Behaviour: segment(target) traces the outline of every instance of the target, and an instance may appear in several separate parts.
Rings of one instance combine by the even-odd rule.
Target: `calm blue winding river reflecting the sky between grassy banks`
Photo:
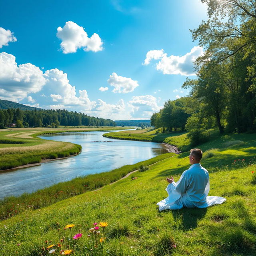
[[[105,138],[102,136],[104,133],[106,132],[65,132],[40,136],[46,140],[80,144],[82,152],[77,156],[37,166],[1,171],[0,199],[31,193],[77,176],[107,172],[168,152],[164,144]]]

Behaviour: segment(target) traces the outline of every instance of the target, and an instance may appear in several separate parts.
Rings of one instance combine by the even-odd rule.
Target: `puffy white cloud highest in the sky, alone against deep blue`
[[[62,40],[60,46],[64,54],[76,52],[78,48],[86,52],[103,50],[103,42],[98,34],[94,33],[89,38],[84,28],[72,21],[66,22],[63,28],[58,27],[56,36]]]

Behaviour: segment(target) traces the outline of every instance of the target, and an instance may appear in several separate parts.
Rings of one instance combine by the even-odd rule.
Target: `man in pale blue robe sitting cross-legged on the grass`
[[[205,208],[214,204],[222,204],[226,198],[208,196],[210,190],[209,173],[204,169],[200,160],[203,152],[198,148],[190,150],[188,170],[182,173],[180,180],[175,183],[174,178],[166,178],[168,184],[166,191],[168,197],[157,203],[159,210],[177,210],[186,206],[188,208]]]

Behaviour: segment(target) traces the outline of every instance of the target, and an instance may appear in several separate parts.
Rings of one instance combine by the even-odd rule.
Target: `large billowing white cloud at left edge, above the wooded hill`
[[[0,53],[0,98],[18,102],[28,93],[39,92],[46,79],[40,68],[31,63],[17,66],[15,56]]]

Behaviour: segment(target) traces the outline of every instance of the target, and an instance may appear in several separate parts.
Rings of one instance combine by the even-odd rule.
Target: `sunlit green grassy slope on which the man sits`
[[[184,136],[183,134],[179,135]],[[172,141],[180,138],[172,137]],[[183,138],[184,143],[186,139]],[[176,144],[178,146],[178,144]],[[205,209],[158,211],[156,203],[166,197],[166,176],[178,180],[189,167],[183,152],[150,166],[145,172],[88,191],[38,210],[0,222],[0,254],[48,255],[42,247],[51,240],[57,249],[65,236],[70,247],[70,230],[82,230],[80,247],[88,245],[88,229],[106,221],[106,248],[111,256],[253,256],[256,250],[256,136],[226,134],[198,145],[204,151],[202,166],[210,173],[209,195],[227,201]],[[83,246],[82,246],[83,247]],[[76,247],[77,248],[77,247]],[[73,255],[85,255],[75,249]]]

